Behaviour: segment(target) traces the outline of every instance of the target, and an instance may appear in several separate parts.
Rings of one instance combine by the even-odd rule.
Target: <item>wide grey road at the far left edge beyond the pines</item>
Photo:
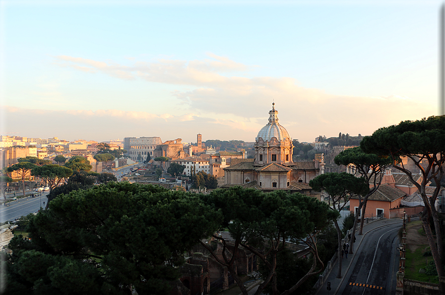
[[[12,221],[29,213],[37,212],[40,206],[45,208],[48,202],[47,195],[48,192],[45,192],[41,197],[18,198],[16,201],[8,202],[7,206],[1,205],[0,222]]]

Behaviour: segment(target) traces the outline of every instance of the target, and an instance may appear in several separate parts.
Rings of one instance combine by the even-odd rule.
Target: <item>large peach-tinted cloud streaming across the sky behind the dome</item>
[[[246,77],[245,72],[254,66],[213,53],[207,55],[209,58],[203,60],[164,58],[153,62],[135,61],[132,65],[65,55],[58,56],[57,60],[62,66],[76,70],[85,71],[85,67],[91,73],[101,72],[119,79],[174,85],[176,90],[170,93],[171,96],[177,98],[179,104],[188,106],[188,114],[183,116],[98,110],[93,112],[95,117],[125,117],[178,129],[196,126],[193,133],[202,133],[199,130],[205,129],[220,139],[226,136],[227,131],[224,130],[228,130],[247,136],[240,138],[242,140],[254,141],[256,132],[267,123],[272,101],[280,112],[280,123],[292,137],[305,141],[312,141],[320,134],[328,137],[339,132],[371,134],[380,127],[398,124],[402,120],[416,120],[435,114],[436,106],[404,94],[379,97],[329,94],[320,89],[302,87],[291,77]],[[230,75],[224,75],[227,73]],[[89,115],[87,111],[81,112]],[[218,127],[212,130],[203,123],[197,124],[199,120],[204,120],[212,128]],[[178,127],[175,124],[182,125]],[[167,132],[166,128],[159,130]],[[215,130],[221,130],[221,134]]]

